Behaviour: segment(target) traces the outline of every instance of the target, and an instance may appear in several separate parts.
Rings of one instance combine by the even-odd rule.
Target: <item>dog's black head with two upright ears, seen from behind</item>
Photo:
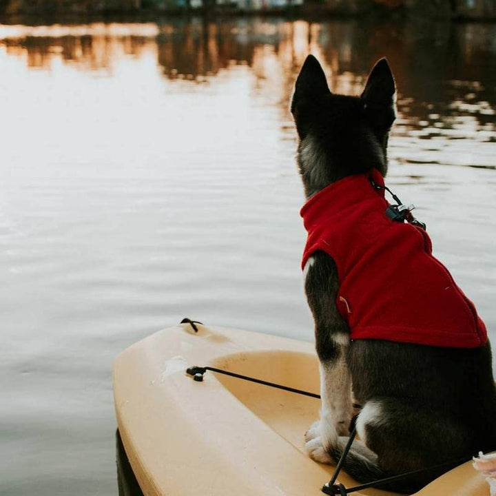
[[[336,180],[372,167],[386,175],[395,94],[386,59],[375,64],[361,96],[344,96],[331,93],[320,63],[307,56],[291,101],[300,136],[298,167],[307,198]]]

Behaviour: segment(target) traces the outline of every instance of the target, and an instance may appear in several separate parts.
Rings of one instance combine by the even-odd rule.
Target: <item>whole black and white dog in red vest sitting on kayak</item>
[[[291,113],[309,230],[304,287],[322,398],[305,440],[316,462],[338,462],[353,394],[360,440],[342,468],[367,483],[446,464],[380,486],[413,493],[459,459],[496,449],[496,388],[472,302],[433,258],[419,223],[386,215],[395,94],[386,59],[361,96],[331,93],[311,55],[296,81]]]

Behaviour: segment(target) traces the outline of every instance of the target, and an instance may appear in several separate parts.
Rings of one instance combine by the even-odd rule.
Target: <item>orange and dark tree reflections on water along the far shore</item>
[[[322,62],[331,90],[344,94],[360,94],[371,64],[387,56],[399,89],[395,134],[437,140],[438,148],[442,140],[463,137],[478,143],[493,141],[496,47],[484,40],[496,37],[495,28],[421,28],[280,19],[3,25],[0,50],[24,61],[28,69],[57,73],[81,70],[105,76],[122,69],[130,59],[155,61],[170,81],[210,85],[220,72],[246,65],[254,76],[253,90],[279,105],[283,128],[289,127],[287,107],[293,83],[308,53]],[[140,76],[148,77],[143,72]],[[474,165],[490,165],[485,158],[477,161]]]

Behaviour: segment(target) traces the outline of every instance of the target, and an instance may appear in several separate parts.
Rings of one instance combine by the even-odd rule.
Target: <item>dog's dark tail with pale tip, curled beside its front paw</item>
[[[339,437],[338,442],[330,448],[329,455],[331,455],[336,463],[339,462],[348,439],[348,437]],[[378,456],[360,441],[354,441],[351,445],[351,449],[342,464],[342,470],[360,484],[367,484],[396,475],[384,471],[378,463]],[[377,488],[395,493],[411,494],[415,493],[425,484],[426,482],[419,480],[417,477],[408,477],[397,481],[377,484]],[[374,485],[374,487],[376,486]]]

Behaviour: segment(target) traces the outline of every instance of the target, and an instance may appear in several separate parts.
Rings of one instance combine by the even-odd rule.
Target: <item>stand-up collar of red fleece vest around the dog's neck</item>
[[[384,186],[384,178],[378,169],[373,168],[366,174],[347,176],[321,189],[300,210],[305,229],[308,231],[309,226],[318,223],[321,218],[329,219],[329,215],[338,214],[348,207],[356,207],[367,198],[384,198],[384,189],[376,189],[371,181],[375,185]]]

